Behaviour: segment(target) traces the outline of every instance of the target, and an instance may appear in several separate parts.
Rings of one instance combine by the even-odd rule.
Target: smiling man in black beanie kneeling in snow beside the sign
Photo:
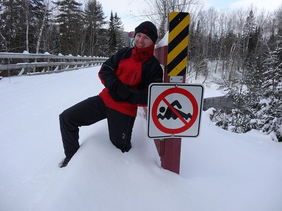
[[[132,128],[138,106],[147,106],[148,87],[162,82],[163,69],[153,55],[156,26],[143,22],[135,28],[134,48],[122,48],[105,61],[99,78],[105,88],[59,115],[65,167],[79,149],[79,127],[107,119],[110,141],[121,152],[131,148]]]

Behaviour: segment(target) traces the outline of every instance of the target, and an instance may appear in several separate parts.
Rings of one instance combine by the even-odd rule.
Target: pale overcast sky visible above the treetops
[[[84,2],[85,0],[81,0]],[[146,0],[98,0],[102,6],[105,16],[107,16],[107,20],[109,20],[109,16],[111,10],[113,13],[117,13],[119,17],[121,17],[121,21],[124,24],[124,31],[130,32],[134,31],[135,27],[138,26],[143,21],[147,21],[149,19],[145,18],[137,18],[132,17],[130,14],[138,15],[138,11],[142,12],[142,10],[146,10]],[[150,0],[147,0],[150,1]],[[204,9],[208,9],[209,7],[214,7],[216,9],[224,9],[224,8],[248,8],[251,4],[257,7],[258,9],[264,8],[269,11],[275,10],[278,6],[282,5],[282,0],[205,0],[203,1],[205,6]]]

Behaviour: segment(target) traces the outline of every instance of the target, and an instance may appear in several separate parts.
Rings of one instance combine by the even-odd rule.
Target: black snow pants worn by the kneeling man
[[[131,148],[131,134],[135,117],[106,107],[100,96],[89,97],[59,115],[64,154],[72,158],[78,151],[79,127],[88,126],[106,119],[110,141],[122,152]]]

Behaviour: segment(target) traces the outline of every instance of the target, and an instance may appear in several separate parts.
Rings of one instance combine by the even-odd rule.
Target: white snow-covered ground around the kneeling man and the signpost
[[[224,131],[210,111],[200,136],[182,139],[180,175],[160,167],[142,109],[128,153],[111,144],[104,120],[81,128],[81,148],[59,168],[58,115],[100,92],[98,70],[0,80],[0,210],[282,210],[281,143]]]

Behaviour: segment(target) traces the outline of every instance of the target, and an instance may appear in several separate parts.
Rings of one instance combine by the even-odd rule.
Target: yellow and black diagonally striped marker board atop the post
[[[189,22],[189,13],[171,12],[169,15],[167,74],[170,76],[186,74]]]

